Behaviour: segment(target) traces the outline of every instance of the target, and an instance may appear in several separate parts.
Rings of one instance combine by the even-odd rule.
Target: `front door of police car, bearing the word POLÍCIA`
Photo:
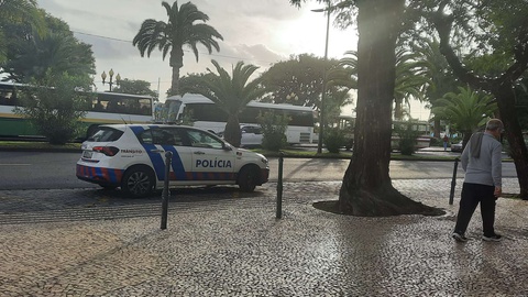
[[[194,180],[234,180],[235,153],[218,138],[201,130],[185,130],[193,154]]]

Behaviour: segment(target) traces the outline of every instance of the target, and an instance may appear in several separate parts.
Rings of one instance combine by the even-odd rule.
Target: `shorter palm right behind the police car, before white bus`
[[[189,86],[200,87],[190,88],[186,91],[204,95],[226,111],[228,121],[223,136],[229,143],[238,147],[242,136],[239,114],[251,100],[260,98],[266,90],[258,87],[260,78],[248,82],[258,67],[239,62],[232,70],[232,76],[230,76],[226,69],[220,67],[218,62],[212,59],[211,63],[217,68],[218,75],[209,70],[209,74],[205,76],[189,77],[188,79],[196,80],[195,82],[189,81]]]

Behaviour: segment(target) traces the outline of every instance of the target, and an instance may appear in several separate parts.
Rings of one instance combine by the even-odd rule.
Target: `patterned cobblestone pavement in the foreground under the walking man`
[[[0,191],[0,296],[528,296],[528,201],[501,198],[498,243],[450,238],[449,179],[393,180],[442,217],[315,209],[339,182],[172,190],[130,200],[96,189]],[[515,179],[505,191],[516,193]]]

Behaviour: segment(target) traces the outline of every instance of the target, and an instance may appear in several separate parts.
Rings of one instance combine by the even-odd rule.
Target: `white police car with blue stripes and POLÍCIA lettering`
[[[233,147],[213,133],[185,125],[108,124],[82,143],[77,177],[130,197],[163,188],[165,152],[169,185],[239,185],[253,191],[267,182],[265,156]]]

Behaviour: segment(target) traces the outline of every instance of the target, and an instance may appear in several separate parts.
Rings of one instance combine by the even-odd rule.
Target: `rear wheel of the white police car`
[[[121,180],[123,194],[133,198],[148,196],[153,188],[154,174],[148,167],[133,167],[124,174]]]

